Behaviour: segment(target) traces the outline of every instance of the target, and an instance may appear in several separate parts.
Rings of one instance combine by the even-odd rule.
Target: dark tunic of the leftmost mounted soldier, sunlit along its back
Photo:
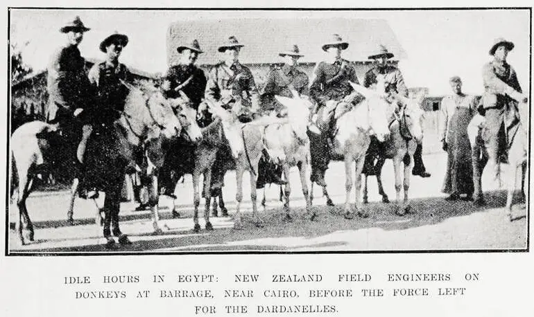
[[[92,93],[85,73],[85,60],[77,46],[58,48],[48,65],[47,88],[49,109],[47,120],[60,124],[71,120],[76,108],[91,104]]]

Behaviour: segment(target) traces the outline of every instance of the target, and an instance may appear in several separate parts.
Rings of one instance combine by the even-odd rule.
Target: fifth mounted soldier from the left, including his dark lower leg
[[[304,55],[300,54],[297,45],[278,55],[284,58],[284,65],[270,71],[260,98],[262,113],[282,116],[284,106],[275,99],[275,96],[293,98],[293,92],[299,96],[309,96],[309,79],[306,73],[298,69],[298,60]],[[267,161],[266,156],[261,158],[259,166],[257,188],[263,188],[266,183],[285,183],[281,179],[282,166]]]

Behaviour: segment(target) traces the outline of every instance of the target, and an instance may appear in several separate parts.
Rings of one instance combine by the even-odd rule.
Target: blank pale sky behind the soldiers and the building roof
[[[432,95],[450,92],[449,78],[463,78],[466,93],[483,90],[481,69],[496,37],[515,43],[508,55],[523,89],[528,89],[528,10],[408,10],[408,11],[164,11],[164,10],[12,10],[11,41],[21,47],[24,61],[34,70],[46,68],[51,53],[64,42],[58,29],[79,15],[92,28],[80,51],[84,57],[103,58],[98,44],[114,30],[130,37],[121,62],[150,73],[166,71],[166,31],[183,19],[239,17],[345,17],[386,19],[407,54],[400,67],[408,87],[429,87]],[[251,30],[252,32],[252,30]],[[343,33],[347,31],[339,30]],[[362,30],[365,32],[365,30]],[[258,36],[261,32],[258,31]],[[313,30],[310,30],[313,36]],[[223,40],[223,39],[221,39]],[[306,39],[302,39],[305,41]],[[199,39],[202,46],[202,39]],[[266,43],[268,45],[268,43]],[[350,43],[356,47],[357,43]],[[320,48],[317,48],[320,50]],[[354,48],[353,48],[354,49]]]

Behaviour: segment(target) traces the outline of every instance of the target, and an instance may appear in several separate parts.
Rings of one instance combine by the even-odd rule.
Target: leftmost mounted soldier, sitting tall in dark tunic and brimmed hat
[[[94,103],[85,71],[85,60],[78,49],[78,44],[88,30],[90,28],[83,24],[80,17],[62,26],[60,32],[66,35],[67,42],[53,53],[47,67],[49,107],[46,120],[58,125],[60,129],[62,141],[56,163],[70,176],[79,172],[76,145],[80,141],[80,132],[74,111],[92,107]]]

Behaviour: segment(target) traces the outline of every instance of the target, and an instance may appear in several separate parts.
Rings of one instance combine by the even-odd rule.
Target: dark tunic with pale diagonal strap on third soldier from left
[[[165,91],[166,98],[180,97],[179,91],[175,89],[183,85],[180,90],[191,100],[193,108],[198,109],[198,105],[204,98],[207,84],[206,75],[202,69],[184,64],[171,66],[165,75],[165,80],[171,84],[170,89]]]

